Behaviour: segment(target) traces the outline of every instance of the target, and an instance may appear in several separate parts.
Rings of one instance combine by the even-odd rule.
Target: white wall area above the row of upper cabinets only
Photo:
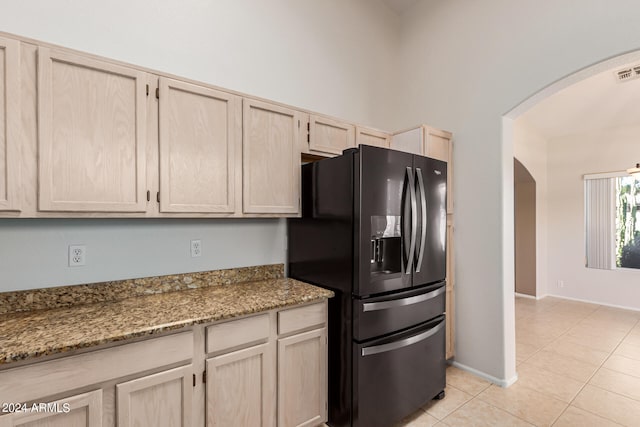
[[[0,31],[388,122],[399,18],[379,0],[0,0]]]

